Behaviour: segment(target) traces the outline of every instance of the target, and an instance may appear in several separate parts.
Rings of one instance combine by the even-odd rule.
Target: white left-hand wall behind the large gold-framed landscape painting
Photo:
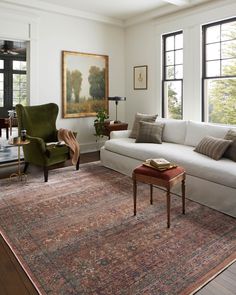
[[[0,12],[1,23],[5,24],[0,27],[0,38],[29,40],[31,44],[30,104],[57,103],[57,127],[77,131],[82,152],[93,150],[97,146],[93,135],[95,118],[62,118],[61,51],[108,55],[109,95],[124,96],[124,29],[43,11],[34,11],[32,17],[30,12]],[[118,118],[125,120],[124,105],[118,107]],[[109,109],[110,118],[115,119],[115,104],[110,103]]]

